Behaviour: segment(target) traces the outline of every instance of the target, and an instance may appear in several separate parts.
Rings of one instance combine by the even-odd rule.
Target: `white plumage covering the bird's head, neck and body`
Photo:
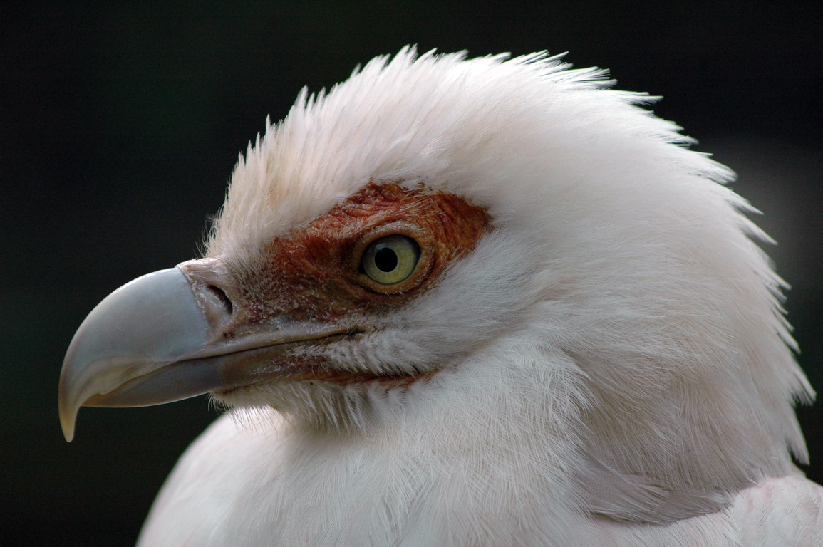
[[[142,545],[820,544],[821,489],[789,456],[813,392],[765,235],[729,169],[604,78],[403,49],[267,126],[213,256],[254,267],[370,181],[468,197],[495,229],[379,333],[328,346],[445,370],[227,400],[297,418],[219,420]]]

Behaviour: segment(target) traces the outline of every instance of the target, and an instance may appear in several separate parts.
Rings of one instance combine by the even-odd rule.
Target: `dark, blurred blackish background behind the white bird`
[[[111,2],[115,3],[115,2]],[[778,2],[30,2],[0,10],[0,543],[131,545],[200,397],[84,409],[66,444],[63,352],[124,282],[197,253],[238,151],[300,87],[397,52],[570,51],[732,166],[794,286],[803,367],[823,387],[820,8]],[[823,480],[823,420],[802,409]]]

